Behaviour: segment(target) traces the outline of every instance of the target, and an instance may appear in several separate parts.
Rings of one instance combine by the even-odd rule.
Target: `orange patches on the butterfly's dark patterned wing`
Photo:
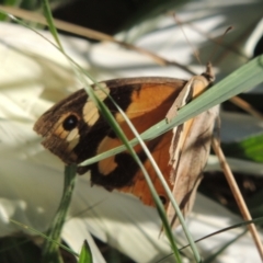
[[[141,90],[135,91],[132,94],[132,103],[126,110],[126,114],[130,118],[133,125],[136,127],[138,133],[142,133],[148,129],[150,126],[163,119],[168,110],[174,101],[174,93],[179,91],[174,89],[174,87],[167,85],[142,85]],[[132,133],[127,123],[123,119],[119,113],[116,114],[116,119],[118,121],[121,128],[130,140],[134,138],[134,134]],[[172,185],[169,181],[171,167],[168,163],[170,159],[169,148],[172,139],[172,132],[167,133],[165,135],[158,137],[151,141],[147,141],[146,145],[151,150],[151,155],[156,162],[158,163],[162,174],[165,176],[167,182],[170,187]],[[103,141],[100,144],[98,148],[98,153],[104,152],[106,150],[113,149],[117,146],[122,145],[122,141],[118,138],[110,138],[105,137]],[[142,149],[139,145],[134,147],[137,153],[141,152]],[[106,158],[99,162],[99,170],[102,174],[107,175],[113,172],[117,165],[114,161],[114,156]],[[152,168],[150,161],[147,159],[144,163],[146,170],[148,171],[157,192],[160,196],[163,196],[165,199],[165,206],[168,205],[168,197],[163,190],[163,186],[156,174],[155,169]],[[132,185],[124,186],[118,188],[122,192],[133,193],[138,196],[146,205],[153,205],[153,201],[148,187],[148,184],[145,180],[145,176],[141,170],[138,170],[136,174],[134,174]]]

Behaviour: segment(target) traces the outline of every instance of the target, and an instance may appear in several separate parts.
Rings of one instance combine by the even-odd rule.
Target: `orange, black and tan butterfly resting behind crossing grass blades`
[[[176,111],[206,90],[213,82],[211,66],[188,81],[175,78],[126,78],[92,85],[130,140],[134,134],[108,95],[125,112],[138,133],[144,133],[165,116],[170,122]],[[176,202],[185,215],[192,207],[196,187],[206,164],[217,107],[208,110],[150,141],[146,141],[153,159],[165,178]],[[43,145],[66,164],[84,160],[122,145],[108,123],[87,92],[78,90],[61,100],[34,125],[44,137]],[[134,147],[168,211],[175,221],[174,210],[145,151]],[[108,191],[132,193],[146,205],[153,206],[150,191],[138,164],[128,151],[96,163],[78,167],[78,173],[90,171],[91,183]]]

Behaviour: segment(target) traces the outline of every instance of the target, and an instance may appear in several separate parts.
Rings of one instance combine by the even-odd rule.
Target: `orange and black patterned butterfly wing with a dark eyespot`
[[[103,82],[105,92],[96,93],[111,110],[128,139],[130,128],[107,98],[110,94],[123,108],[139,133],[163,119],[185,81],[169,78],[135,78]],[[65,163],[80,163],[98,153],[122,145],[112,128],[89,100],[84,90],[77,91],[47,111],[34,129],[44,137],[43,145]],[[147,142],[163,175],[169,176],[169,146],[172,133]],[[135,147],[147,168],[157,191],[167,201],[155,170],[139,146]],[[79,167],[78,172],[91,171],[91,181],[107,190],[132,192],[145,204],[152,205],[151,195],[138,165],[128,152],[121,152],[99,163]]]

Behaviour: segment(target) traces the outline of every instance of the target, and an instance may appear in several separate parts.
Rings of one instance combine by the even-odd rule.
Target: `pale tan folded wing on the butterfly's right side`
[[[211,65],[208,64],[207,71],[202,76],[191,78],[185,88],[190,88],[191,98],[196,98],[210,85],[213,80]],[[180,96],[182,96],[180,100],[181,106],[183,106],[187,103],[188,98],[185,89],[180,93]],[[175,111],[176,104],[179,104],[176,100],[173,104]],[[170,115],[173,115],[171,110],[168,113],[168,116]],[[196,190],[202,180],[202,172],[209,155],[210,139],[217,116],[218,106],[173,128],[173,138],[170,147],[170,180],[173,196],[184,217],[192,209]],[[167,214],[171,226],[175,227],[179,220],[171,203],[169,204]]]

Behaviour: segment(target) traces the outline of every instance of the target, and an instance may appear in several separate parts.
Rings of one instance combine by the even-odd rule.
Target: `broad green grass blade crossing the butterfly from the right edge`
[[[220,104],[221,102],[235,96],[242,91],[255,87],[263,82],[263,55],[254,58],[247,65],[233,71],[231,75],[226,77],[219,83],[215,84],[209,90],[205,91],[198,98],[186,104],[179,112],[176,117],[167,124],[165,119],[159,122],[151,128],[147,129],[140,136],[144,140],[153,139],[165,132],[172,129],[187,119],[198,115],[199,113]],[[133,146],[138,144],[137,138],[129,141]],[[116,147],[115,149],[105,151],[98,155],[89,160],[82,162],[80,165],[89,165],[94,162],[101,161],[107,157],[119,153],[125,150],[124,146]]]

